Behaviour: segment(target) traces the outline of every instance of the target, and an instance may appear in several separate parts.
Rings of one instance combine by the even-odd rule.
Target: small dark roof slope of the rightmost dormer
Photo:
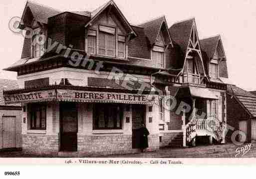
[[[201,49],[206,52],[209,58],[214,56],[219,39],[220,39],[220,35],[204,38],[200,40]]]

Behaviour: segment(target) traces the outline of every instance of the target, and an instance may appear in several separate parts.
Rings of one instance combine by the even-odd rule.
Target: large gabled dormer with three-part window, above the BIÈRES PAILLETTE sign
[[[110,0],[91,12],[85,25],[85,51],[90,55],[127,58],[127,42],[136,36],[114,1]]]

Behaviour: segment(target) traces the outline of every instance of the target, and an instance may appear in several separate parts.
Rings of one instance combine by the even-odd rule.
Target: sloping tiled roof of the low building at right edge
[[[235,85],[227,85],[227,92],[234,95],[247,113],[256,117],[256,96]]]

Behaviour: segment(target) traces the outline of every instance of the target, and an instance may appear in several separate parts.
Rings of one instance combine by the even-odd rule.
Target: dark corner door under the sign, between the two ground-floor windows
[[[76,104],[60,104],[60,151],[77,151],[77,131]]]

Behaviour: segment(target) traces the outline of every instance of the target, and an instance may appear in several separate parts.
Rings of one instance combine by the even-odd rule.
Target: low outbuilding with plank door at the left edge
[[[16,80],[0,79],[0,151],[20,150],[21,139],[21,106],[5,105],[3,90],[18,88]]]

